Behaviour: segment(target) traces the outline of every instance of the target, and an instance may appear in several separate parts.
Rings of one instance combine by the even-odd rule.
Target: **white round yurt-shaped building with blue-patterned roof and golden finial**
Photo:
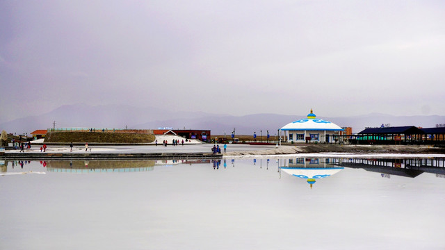
[[[311,110],[307,118],[286,124],[280,131],[284,131],[287,142],[332,142],[334,135],[339,135],[343,128],[316,118]]]

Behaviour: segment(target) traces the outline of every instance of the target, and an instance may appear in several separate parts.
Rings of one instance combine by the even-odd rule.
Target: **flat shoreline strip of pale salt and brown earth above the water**
[[[419,146],[419,145],[344,145],[344,144],[297,144],[273,146],[250,146],[248,144],[229,144],[227,153],[211,153],[211,144],[188,145],[177,147],[152,146],[95,146],[92,151],[85,151],[83,147],[57,146],[49,147],[46,152],[40,152],[39,147],[19,150],[6,150],[0,154],[0,158],[6,159],[73,159],[73,158],[102,158],[102,159],[129,159],[129,158],[221,158],[234,156],[419,156],[419,157],[445,157],[444,147]]]

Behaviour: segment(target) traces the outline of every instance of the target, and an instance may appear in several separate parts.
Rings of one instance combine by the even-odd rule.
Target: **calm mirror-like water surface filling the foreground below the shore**
[[[445,249],[444,169],[437,158],[3,161],[0,249]],[[46,174],[17,174],[31,171]]]

